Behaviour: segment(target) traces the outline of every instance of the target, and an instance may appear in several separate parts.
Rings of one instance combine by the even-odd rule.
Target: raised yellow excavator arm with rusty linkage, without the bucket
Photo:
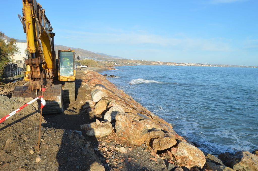
[[[45,15],[45,10],[36,0],[23,0],[22,14],[19,18],[27,37],[30,88],[41,89],[46,79],[57,78],[57,65],[54,50],[53,28]]]

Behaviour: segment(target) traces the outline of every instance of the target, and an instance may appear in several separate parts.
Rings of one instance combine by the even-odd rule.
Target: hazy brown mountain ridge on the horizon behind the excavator
[[[11,38],[8,36],[5,36],[5,38],[7,38],[7,41],[9,41]],[[17,39],[17,42],[27,42],[26,40],[19,40]],[[95,53],[95,52],[91,52],[88,50],[84,50],[81,48],[74,48],[74,47],[68,47],[68,46],[63,46],[63,45],[56,45],[55,44],[55,52],[56,55],[58,53],[58,50],[61,49],[71,49],[71,50],[75,50],[76,56],[80,56],[80,57],[90,57],[90,58],[96,58],[96,59],[124,59],[122,57],[119,56],[112,56],[112,55],[107,55],[107,54],[103,54],[103,53]]]

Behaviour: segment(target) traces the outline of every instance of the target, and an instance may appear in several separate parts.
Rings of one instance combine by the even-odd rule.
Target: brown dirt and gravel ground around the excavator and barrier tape
[[[66,104],[61,114],[43,116],[39,152],[40,101],[0,124],[0,170],[87,170],[94,162],[103,165],[105,170],[167,170],[167,159],[150,159],[153,156],[144,146],[127,147],[109,137],[96,139],[80,129],[80,124],[94,122],[81,109],[91,98],[90,92],[83,89],[79,75],[87,69],[93,68],[77,71],[76,102]],[[7,92],[0,96],[0,117],[31,100],[9,99],[11,89],[22,84],[21,81],[0,87],[1,93]],[[127,153],[114,149],[121,146],[127,149]],[[39,158],[41,160],[37,162]]]

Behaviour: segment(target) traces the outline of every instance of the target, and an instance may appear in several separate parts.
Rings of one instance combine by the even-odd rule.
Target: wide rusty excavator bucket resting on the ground
[[[28,86],[16,86],[13,90],[12,97],[32,97],[41,96],[42,92],[36,94],[35,90],[31,91]],[[64,111],[62,98],[62,85],[51,84],[51,88],[47,88],[44,92],[44,100],[46,106],[42,109],[43,114],[58,114]]]

